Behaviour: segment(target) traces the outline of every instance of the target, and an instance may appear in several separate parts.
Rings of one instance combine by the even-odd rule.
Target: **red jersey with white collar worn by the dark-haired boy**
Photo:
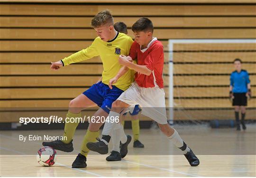
[[[137,59],[138,65],[144,65],[152,70],[149,76],[137,72],[135,74],[137,85],[144,88],[158,85],[160,88],[164,88],[164,80],[162,77],[164,68],[164,47],[161,42],[153,38],[146,49],[140,50],[140,45],[134,41],[129,56],[133,60]]]

